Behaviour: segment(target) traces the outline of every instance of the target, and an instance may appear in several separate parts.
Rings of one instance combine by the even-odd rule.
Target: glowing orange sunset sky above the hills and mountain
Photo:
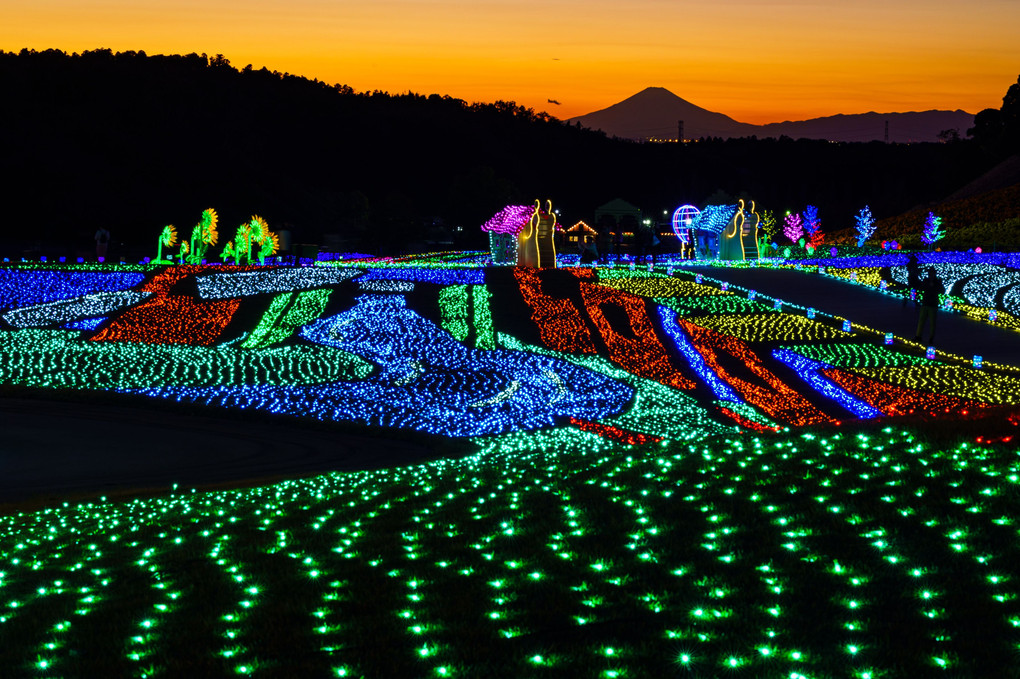
[[[223,54],[568,118],[649,86],[745,122],[1002,105],[1020,0],[3,0],[0,49]],[[553,99],[560,105],[549,103]]]

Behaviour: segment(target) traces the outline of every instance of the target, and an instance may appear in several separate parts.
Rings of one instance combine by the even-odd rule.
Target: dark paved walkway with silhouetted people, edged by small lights
[[[847,282],[840,278],[796,269],[674,267],[701,273],[706,278],[758,291],[802,307],[850,319],[897,337],[913,340],[917,329],[917,308],[903,304],[903,298]],[[927,341],[928,334],[924,333]],[[939,311],[933,346],[970,359],[1020,367],[1020,332],[970,319],[963,314]],[[1018,395],[1020,398],[1020,395]]]

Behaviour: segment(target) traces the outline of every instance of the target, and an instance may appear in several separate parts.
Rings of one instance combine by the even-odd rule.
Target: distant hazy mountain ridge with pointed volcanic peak
[[[688,140],[785,136],[832,142],[881,142],[885,140],[887,121],[889,142],[937,142],[938,134],[945,129],[956,129],[960,137],[965,137],[967,129],[974,125],[974,115],[962,110],[840,113],[810,120],[756,125],[704,109],[665,88],[646,88],[608,108],[570,118],[569,121],[601,129],[610,137],[647,141],[676,139],[678,120],[683,121],[683,137]]]

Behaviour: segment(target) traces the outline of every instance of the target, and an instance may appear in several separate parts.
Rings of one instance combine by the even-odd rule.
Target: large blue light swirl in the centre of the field
[[[623,412],[633,389],[560,359],[472,350],[393,295],[363,295],[348,311],[302,329],[309,342],[377,366],[367,379],[312,386],[157,387],[137,393],[321,420],[404,427],[450,436],[537,429],[567,417]]]

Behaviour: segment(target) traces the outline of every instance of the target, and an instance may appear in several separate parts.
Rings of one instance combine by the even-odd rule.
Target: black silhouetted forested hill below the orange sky
[[[570,223],[613,198],[659,217],[710,196],[812,203],[834,230],[865,203],[898,214],[990,162],[969,142],[635,144],[513,102],[358,93],[221,55],[0,52],[0,99],[5,232],[86,250],[100,224],[147,247],[206,207],[224,226],[260,214],[295,243],[398,252],[442,225],[483,247],[492,214],[547,197]]]

